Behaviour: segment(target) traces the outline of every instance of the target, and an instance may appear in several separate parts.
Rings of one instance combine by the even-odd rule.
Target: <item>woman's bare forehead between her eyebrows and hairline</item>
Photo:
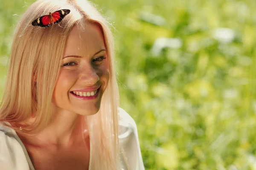
[[[65,46],[64,55],[93,55],[105,49],[104,38],[99,26],[92,23],[77,25],[72,28]]]

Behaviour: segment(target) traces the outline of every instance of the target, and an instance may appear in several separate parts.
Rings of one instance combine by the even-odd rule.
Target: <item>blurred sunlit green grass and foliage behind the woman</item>
[[[0,0],[0,78],[33,0]],[[147,170],[256,170],[255,0],[93,0]],[[3,81],[0,87],[3,87]]]

